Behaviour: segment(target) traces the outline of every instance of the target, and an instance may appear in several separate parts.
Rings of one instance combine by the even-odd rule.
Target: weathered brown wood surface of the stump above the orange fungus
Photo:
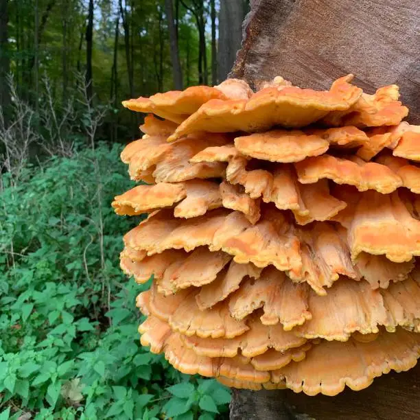
[[[231,76],[326,89],[353,73],[368,93],[396,83],[419,124],[419,57],[419,1],[254,0]]]

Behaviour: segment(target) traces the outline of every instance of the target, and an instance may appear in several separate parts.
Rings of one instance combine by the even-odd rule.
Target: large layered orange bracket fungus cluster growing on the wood
[[[141,343],[237,388],[336,395],[420,356],[420,126],[373,95],[275,78],[124,102],[148,113],[121,159],[119,215]]]

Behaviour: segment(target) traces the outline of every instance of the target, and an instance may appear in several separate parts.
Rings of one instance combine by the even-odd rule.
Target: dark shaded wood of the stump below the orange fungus
[[[378,377],[369,388],[336,397],[307,397],[291,390],[233,390],[231,420],[420,419],[420,366]]]

